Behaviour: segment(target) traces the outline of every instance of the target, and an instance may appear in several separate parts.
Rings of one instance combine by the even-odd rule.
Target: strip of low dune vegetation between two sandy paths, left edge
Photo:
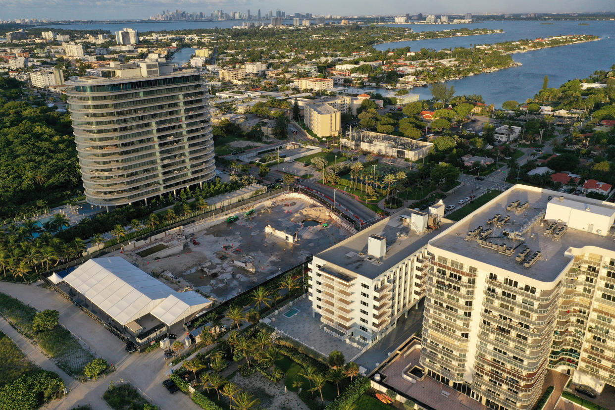
[[[94,359],[92,353],[85,350],[73,334],[61,325],[49,331],[34,331],[32,321],[36,312],[33,307],[0,293],[0,314],[19,333],[36,342],[59,368],[84,379],[83,369]]]

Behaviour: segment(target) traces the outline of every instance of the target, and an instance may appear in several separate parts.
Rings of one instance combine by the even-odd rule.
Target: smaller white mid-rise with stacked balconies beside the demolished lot
[[[442,201],[403,210],[314,255],[309,299],[330,333],[374,343],[423,299],[427,241],[451,224],[443,214]]]

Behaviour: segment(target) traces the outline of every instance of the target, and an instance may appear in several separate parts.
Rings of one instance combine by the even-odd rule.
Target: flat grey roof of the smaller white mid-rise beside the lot
[[[399,218],[402,215],[410,216],[412,212],[405,208],[315,255],[316,258],[327,262],[320,269],[331,273],[331,270],[341,268],[338,273],[331,274],[347,276],[344,271],[349,270],[363,277],[375,279],[426,246],[430,239],[453,224],[453,221],[442,219],[438,229],[428,229],[423,234],[417,234]],[[367,242],[369,237],[386,238],[386,254],[379,262],[376,262],[377,259],[373,257],[363,258],[360,256],[360,253],[363,256],[368,256]]]

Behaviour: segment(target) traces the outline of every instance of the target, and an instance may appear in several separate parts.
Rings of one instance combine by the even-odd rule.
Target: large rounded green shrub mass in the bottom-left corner
[[[0,387],[0,410],[34,410],[62,395],[64,382],[57,374],[41,370],[23,375]]]

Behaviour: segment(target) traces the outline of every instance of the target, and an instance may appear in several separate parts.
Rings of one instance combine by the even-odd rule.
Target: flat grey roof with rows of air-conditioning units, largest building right
[[[564,198],[563,202],[560,202],[560,196]],[[552,199],[549,199],[549,197],[552,197]],[[509,203],[516,200],[519,200],[520,203],[527,201],[528,207],[520,213],[517,213],[514,209],[507,210]],[[515,185],[466,216],[466,218],[461,219],[454,226],[446,229],[445,232],[432,239],[429,245],[540,282],[553,282],[565,269],[572,258],[571,255],[566,256],[565,254],[568,248],[581,248],[582,246],[597,246],[608,250],[615,248],[615,237],[612,235],[601,236],[571,227],[568,227],[559,240],[554,240],[554,235],[545,235],[548,224],[543,222],[543,218],[549,201],[557,201],[558,204],[565,203],[571,208],[583,210],[587,204],[596,215],[612,213],[615,209],[615,204],[600,200],[561,194],[538,187]],[[499,219],[509,215],[509,221],[501,227],[486,222],[487,219],[498,213],[501,215]],[[512,256],[481,246],[476,239],[465,240],[466,234],[478,226],[482,226],[483,231],[493,229],[493,232],[485,240],[497,244],[504,243],[506,246],[514,248]],[[525,232],[519,235],[521,239],[510,239],[510,237],[502,235],[504,231],[521,232],[524,230]],[[523,250],[523,245],[530,248],[528,256],[535,251],[541,252],[540,258],[531,267],[524,267],[522,263],[515,261],[517,254]]]

